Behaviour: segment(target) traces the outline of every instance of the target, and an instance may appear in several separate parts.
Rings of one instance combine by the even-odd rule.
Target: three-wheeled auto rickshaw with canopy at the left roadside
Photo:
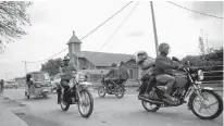
[[[36,98],[48,98],[48,94],[51,93],[49,74],[46,72],[33,72],[29,73],[29,75],[32,76],[30,89],[28,89],[28,86],[26,86],[25,88],[25,96],[27,97],[27,99],[29,99],[30,96],[34,96]]]

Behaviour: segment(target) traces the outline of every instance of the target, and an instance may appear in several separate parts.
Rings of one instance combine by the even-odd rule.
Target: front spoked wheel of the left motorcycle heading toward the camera
[[[89,117],[94,110],[94,98],[88,89],[80,90],[78,99],[78,111],[83,117]],[[80,101],[82,99],[82,101]]]

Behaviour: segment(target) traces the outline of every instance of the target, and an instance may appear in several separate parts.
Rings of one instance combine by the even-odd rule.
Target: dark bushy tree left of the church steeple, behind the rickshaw
[[[47,71],[51,76],[59,73],[59,68],[62,65],[62,59],[51,59],[47,63],[41,65],[41,71]]]

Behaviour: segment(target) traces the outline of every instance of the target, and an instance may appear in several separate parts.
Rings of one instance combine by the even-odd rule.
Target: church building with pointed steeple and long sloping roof
[[[100,76],[107,74],[112,63],[120,64],[122,61],[129,72],[129,79],[137,79],[139,76],[134,54],[82,51],[82,41],[74,32],[67,45],[70,59],[78,70],[89,74],[91,81],[99,81]]]

